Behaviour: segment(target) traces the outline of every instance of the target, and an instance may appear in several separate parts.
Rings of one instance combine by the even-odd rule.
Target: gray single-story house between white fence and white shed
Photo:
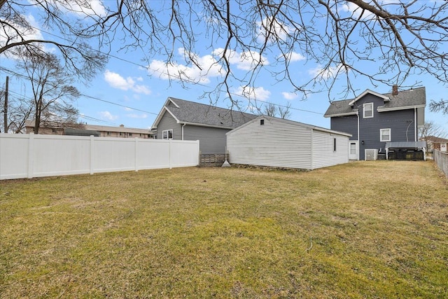
[[[225,133],[257,116],[169,97],[152,129],[157,139],[199,140],[203,154],[225,153]]]

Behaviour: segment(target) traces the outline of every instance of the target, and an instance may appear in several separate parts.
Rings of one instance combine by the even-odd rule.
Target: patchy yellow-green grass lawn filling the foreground
[[[447,298],[433,162],[0,181],[0,298]]]

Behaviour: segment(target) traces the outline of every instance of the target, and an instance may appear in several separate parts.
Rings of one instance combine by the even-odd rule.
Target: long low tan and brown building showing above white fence
[[[31,133],[34,131],[34,120],[27,120],[25,122],[25,132]],[[52,135],[76,135],[76,136],[90,136],[95,137],[120,137],[120,138],[153,138],[154,132],[149,129],[136,129],[133,127],[111,127],[107,125],[87,125],[75,124],[71,127],[63,127],[57,123],[47,124],[39,127],[39,134]]]

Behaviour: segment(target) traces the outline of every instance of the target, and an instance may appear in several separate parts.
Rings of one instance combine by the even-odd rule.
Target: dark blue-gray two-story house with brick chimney
[[[365,160],[385,153],[386,142],[418,141],[418,130],[425,122],[426,90],[414,88],[380,94],[365,90],[355,99],[335,101],[325,112],[331,130],[352,135],[349,158]]]

